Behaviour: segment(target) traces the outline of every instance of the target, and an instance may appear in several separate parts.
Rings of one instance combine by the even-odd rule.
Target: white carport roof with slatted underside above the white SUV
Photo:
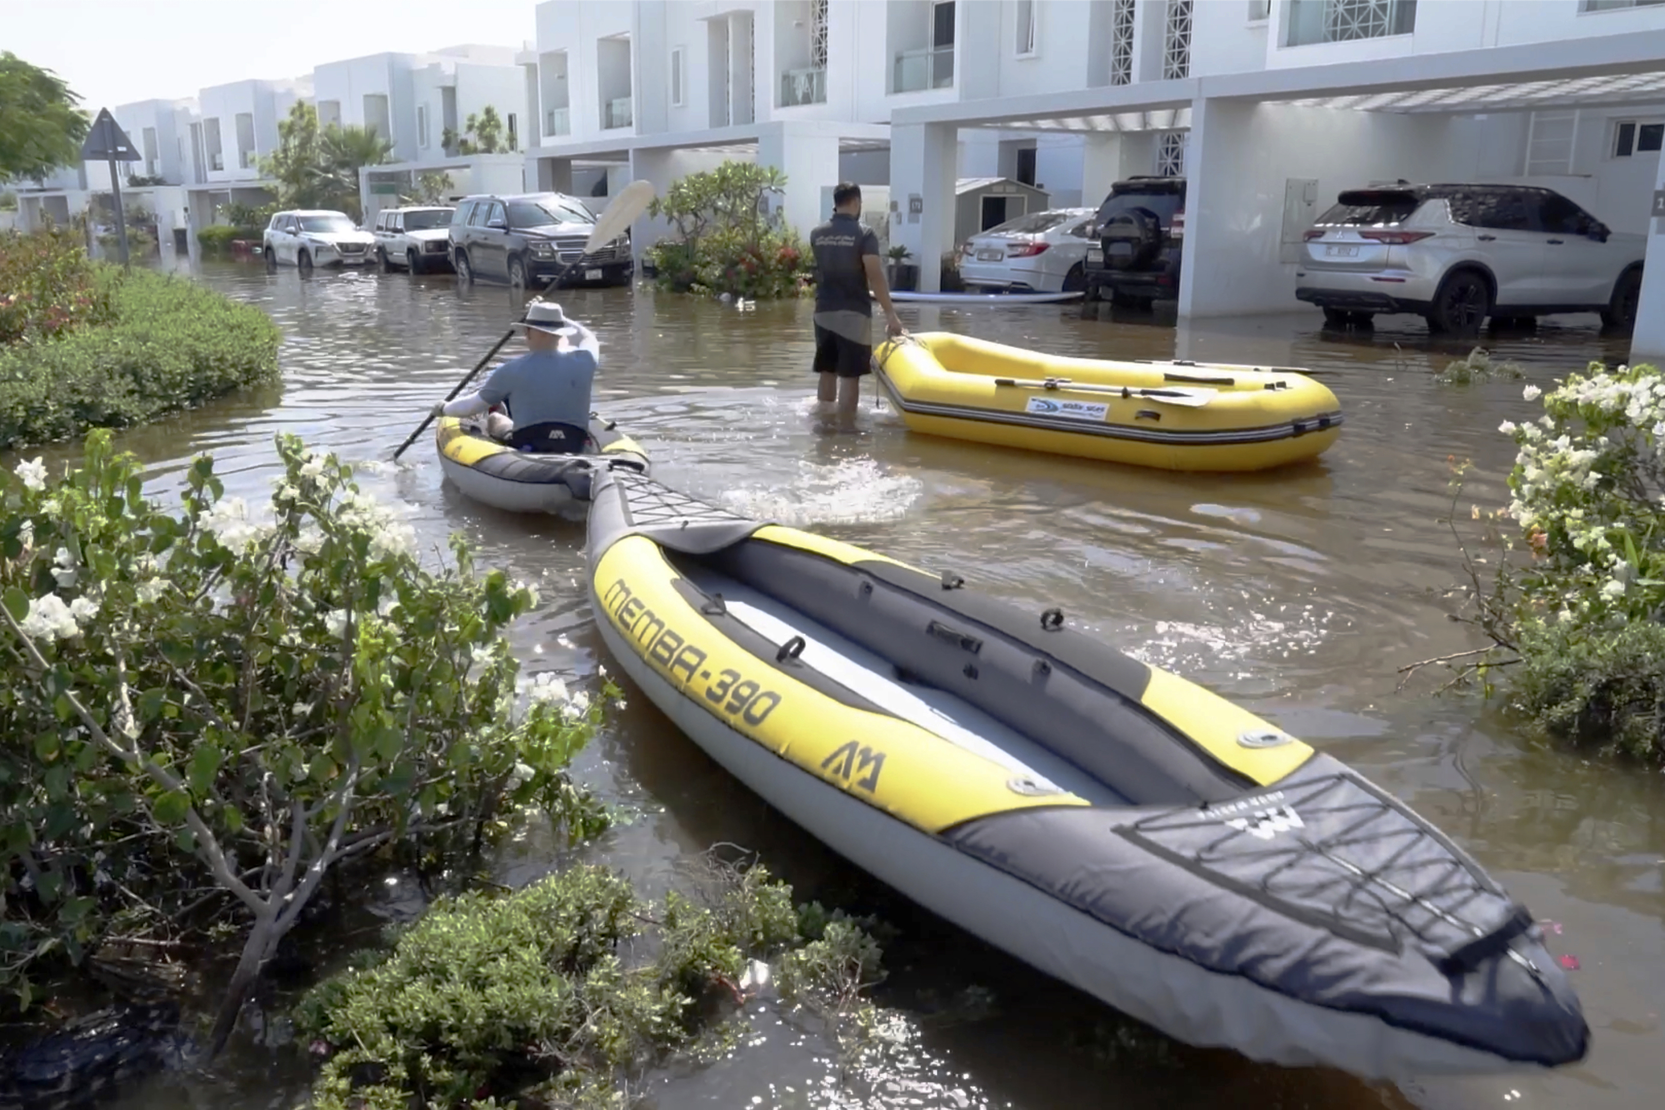
[[[1665,30],[919,105],[897,108],[891,123],[1132,131],[1189,126],[1195,98],[1370,111],[1508,111],[1637,102],[1657,93],[1665,93]]]

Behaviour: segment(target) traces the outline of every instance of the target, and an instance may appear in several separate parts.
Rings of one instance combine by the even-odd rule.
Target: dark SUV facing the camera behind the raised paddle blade
[[[465,283],[543,285],[583,258],[564,285],[629,285],[636,271],[629,233],[584,255],[594,226],[584,201],[564,193],[465,196],[451,215],[451,266]]]

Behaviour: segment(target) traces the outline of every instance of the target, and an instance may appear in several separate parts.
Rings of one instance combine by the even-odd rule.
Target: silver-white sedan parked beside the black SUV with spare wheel
[[[1074,293],[1087,288],[1092,208],[1049,208],[996,225],[959,248],[967,288]]]

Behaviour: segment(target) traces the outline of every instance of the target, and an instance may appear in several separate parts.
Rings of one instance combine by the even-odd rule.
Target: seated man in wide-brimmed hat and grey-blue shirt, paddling
[[[596,333],[546,301],[528,305],[514,326],[526,328],[526,354],[491,371],[478,391],[440,401],[433,414],[475,416],[506,404],[508,416],[491,411],[486,419],[491,438],[538,454],[583,451],[589,389],[601,364]]]

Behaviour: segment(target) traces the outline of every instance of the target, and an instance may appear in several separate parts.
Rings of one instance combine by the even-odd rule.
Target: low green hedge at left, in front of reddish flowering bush
[[[113,323],[0,344],[0,449],[123,428],[275,381],[266,313],[186,278],[98,265]]]

